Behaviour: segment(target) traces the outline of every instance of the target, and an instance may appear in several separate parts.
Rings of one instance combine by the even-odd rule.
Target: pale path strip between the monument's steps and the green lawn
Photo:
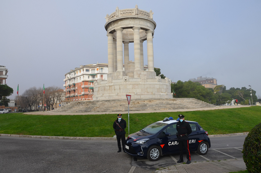
[[[151,110],[151,111],[130,111],[130,113],[151,113],[151,112],[185,112],[185,111],[204,111],[204,110],[213,110],[213,109],[227,109],[227,108],[243,108],[250,106],[216,106],[214,108],[197,108],[197,109],[176,109],[176,110]],[[26,115],[99,115],[99,114],[126,114],[127,111],[123,112],[86,112],[86,113],[74,113],[74,112],[53,112],[53,111],[45,111],[45,112],[27,112],[24,113]]]

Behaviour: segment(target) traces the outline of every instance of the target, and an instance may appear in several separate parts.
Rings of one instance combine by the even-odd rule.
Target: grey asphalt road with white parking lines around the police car
[[[210,138],[206,155],[191,153],[191,162],[242,158],[245,136]],[[147,173],[175,165],[179,154],[164,155],[158,161],[137,159],[120,152],[117,141],[50,140],[0,136],[1,173]],[[184,161],[186,156],[184,153]]]

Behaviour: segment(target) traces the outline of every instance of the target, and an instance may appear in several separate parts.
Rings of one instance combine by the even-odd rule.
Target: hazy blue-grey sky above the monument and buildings
[[[251,85],[261,95],[261,1],[4,1],[0,0],[0,65],[19,93],[62,88],[80,65],[108,63],[106,14],[154,12],[154,66],[172,81],[214,77],[218,85]],[[144,64],[147,64],[146,41]],[[130,43],[130,60],[134,45]]]

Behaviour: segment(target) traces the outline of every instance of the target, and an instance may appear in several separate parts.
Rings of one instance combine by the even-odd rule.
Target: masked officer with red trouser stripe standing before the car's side
[[[177,135],[178,135],[178,146],[180,151],[179,160],[177,163],[183,162],[183,147],[187,151],[187,163],[190,163],[190,151],[189,151],[189,134],[192,132],[191,127],[188,122],[184,120],[184,115],[178,115],[179,121],[177,122]]]

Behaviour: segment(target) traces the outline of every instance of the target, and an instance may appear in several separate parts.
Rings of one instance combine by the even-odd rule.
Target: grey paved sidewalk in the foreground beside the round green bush
[[[178,164],[168,168],[156,170],[156,173],[228,173],[232,171],[246,170],[246,164],[241,159],[229,159],[223,161],[193,162],[190,164]]]

